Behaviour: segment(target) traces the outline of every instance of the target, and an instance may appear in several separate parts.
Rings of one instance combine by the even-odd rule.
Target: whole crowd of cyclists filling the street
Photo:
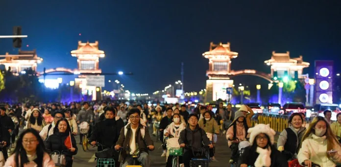
[[[247,105],[233,111],[231,104],[225,108],[220,103],[216,112],[212,109],[203,104],[192,111],[185,104],[149,106],[105,101],[12,107],[5,104],[0,107],[3,154],[0,166],[5,163],[5,167],[54,167],[49,154],[57,151],[65,157],[66,167],[72,167],[73,156],[78,152],[74,136],[79,134],[79,144],[82,144],[84,134],[78,129],[82,123],[89,125],[87,135],[91,145],[98,146],[98,155],[108,154],[107,158],[113,158],[116,167],[132,165],[134,161],[150,167],[148,151],[154,149],[150,126],[152,135],[159,136],[163,142],[161,157],[165,157],[166,167],[174,164],[174,157],[170,155],[174,147],[184,148],[178,159],[180,167],[190,167],[191,162],[183,160],[195,156],[218,162],[215,143],[220,135],[226,137],[231,149],[230,164],[238,167],[288,167],[288,162],[289,166],[296,163],[308,167],[314,164],[336,167],[341,162],[341,113],[333,123],[334,111],[326,110],[325,117],[315,117],[309,124],[304,111],[293,113],[289,127],[280,133],[276,144],[275,132],[269,125],[252,127],[254,113]],[[15,147],[10,157],[7,155],[9,147]],[[108,150],[113,149],[117,151],[110,154]],[[207,154],[202,154],[201,150]]]

